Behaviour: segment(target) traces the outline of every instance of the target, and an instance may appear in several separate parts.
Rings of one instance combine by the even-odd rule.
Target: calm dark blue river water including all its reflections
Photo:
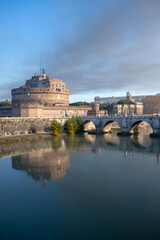
[[[160,140],[65,136],[0,145],[1,239],[160,239]]]

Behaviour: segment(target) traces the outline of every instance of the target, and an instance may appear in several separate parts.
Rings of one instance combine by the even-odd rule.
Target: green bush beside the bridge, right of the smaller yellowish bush
[[[64,129],[68,134],[81,133],[84,131],[84,121],[80,117],[72,117],[66,121]]]

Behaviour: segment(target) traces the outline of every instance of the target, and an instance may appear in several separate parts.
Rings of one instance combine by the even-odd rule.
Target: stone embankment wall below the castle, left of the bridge
[[[62,125],[68,118],[56,118]],[[0,135],[15,132],[50,132],[53,118],[0,118]]]

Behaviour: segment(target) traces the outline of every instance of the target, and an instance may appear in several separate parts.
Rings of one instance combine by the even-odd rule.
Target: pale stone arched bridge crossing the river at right
[[[110,132],[113,122],[121,128],[121,134],[129,134],[141,123],[148,123],[153,129],[155,136],[160,136],[160,116],[104,116],[104,117],[83,117],[85,124],[93,123],[98,132]]]

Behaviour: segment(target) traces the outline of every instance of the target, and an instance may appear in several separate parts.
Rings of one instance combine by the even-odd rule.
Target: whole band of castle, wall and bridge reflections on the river
[[[70,154],[90,151],[100,154],[101,150],[128,153],[155,154],[159,161],[160,140],[148,135],[119,137],[116,133],[53,137],[38,141],[10,143],[0,146],[1,157],[12,156],[12,167],[26,171],[35,181],[56,180],[66,175],[70,168]]]

